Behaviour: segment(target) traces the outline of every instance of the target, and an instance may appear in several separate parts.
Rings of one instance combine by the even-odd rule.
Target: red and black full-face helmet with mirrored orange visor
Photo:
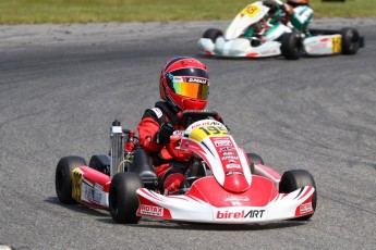
[[[187,57],[168,60],[160,73],[160,98],[180,110],[204,110],[209,75],[204,63]]]

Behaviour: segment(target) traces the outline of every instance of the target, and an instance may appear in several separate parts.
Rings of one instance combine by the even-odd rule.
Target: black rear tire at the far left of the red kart
[[[54,187],[61,203],[75,203],[72,198],[72,171],[82,165],[86,165],[86,162],[81,157],[72,155],[60,159],[54,173]]]

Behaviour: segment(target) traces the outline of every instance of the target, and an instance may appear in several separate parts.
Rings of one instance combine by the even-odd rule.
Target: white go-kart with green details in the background
[[[248,4],[222,30],[207,29],[198,40],[202,54],[222,58],[266,58],[283,55],[354,54],[364,47],[364,37],[355,28],[340,30],[295,29],[281,10],[280,0]]]

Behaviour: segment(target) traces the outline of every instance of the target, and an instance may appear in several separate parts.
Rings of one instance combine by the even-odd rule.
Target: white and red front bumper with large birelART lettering
[[[192,187],[193,188],[193,187]],[[192,190],[191,188],[191,190]],[[230,205],[205,200],[205,195],[195,196],[195,191],[185,195],[162,196],[146,188],[137,190],[138,216],[162,220],[214,223],[214,224],[254,224],[282,221],[314,213],[312,197],[315,189],[305,186],[290,193],[276,193],[264,205],[254,205],[257,196],[250,191],[230,193],[226,190],[216,193],[216,199],[228,200]],[[197,192],[198,193],[198,192]]]

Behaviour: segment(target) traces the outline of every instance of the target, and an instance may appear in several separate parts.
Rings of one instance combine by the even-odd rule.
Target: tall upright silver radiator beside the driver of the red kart
[[[113,121],[110,132],[110,176],[124,171],[124,134],[119,121]]]

